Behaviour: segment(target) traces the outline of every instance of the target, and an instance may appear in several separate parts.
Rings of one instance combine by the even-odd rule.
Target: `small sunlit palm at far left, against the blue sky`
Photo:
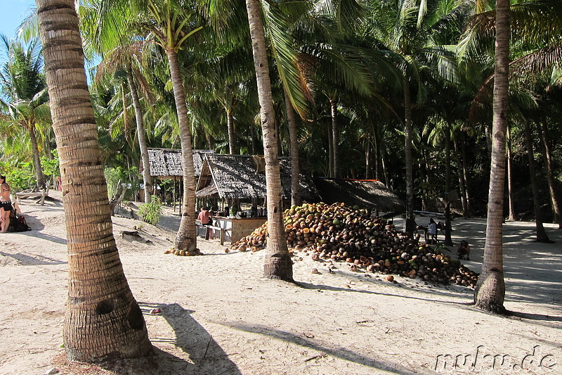
[[[48,124],[48,96],[45,78],[42,72],[41,44],[39,39],[32,40],[27,49],[17,41],[10,42],[1,36],[7,55],[7,61],[0,72],[0,84],[6,100],[0,99],[0,106],[9,114],[4,120],[20,126],[30,135],[33,161],[37,177],[37,187],[45,188],[45,176],[41,168],[37,126]]]

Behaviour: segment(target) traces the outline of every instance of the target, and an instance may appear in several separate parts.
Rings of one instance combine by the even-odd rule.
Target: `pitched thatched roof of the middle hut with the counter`
[[[283,199],[291,198],[291,163],[280,158]],[[301,198],[318,201],[318,190],[310,177],[301,174]],[[221,198],[264,198],[266,175],[256,173],[256,164],[249,155],[221,155],[207,153],[197,182],[198,198],[218,193]]]

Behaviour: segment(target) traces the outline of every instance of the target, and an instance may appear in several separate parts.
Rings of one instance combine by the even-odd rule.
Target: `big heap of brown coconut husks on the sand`
[[[313,260],[351,263],[351,269],[398,274],[439,284],[474,287],[478,274],[426,243],[397,231],[367,210],[344,203],[306,203],[283,215],[287,246],[296,255]],[[230,246],[231,250],[258,251],[267,244],[267,223]]]

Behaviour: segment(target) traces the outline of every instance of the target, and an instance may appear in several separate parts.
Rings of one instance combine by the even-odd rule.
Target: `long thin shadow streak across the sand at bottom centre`
[[[327,355],[332,355],[333,357],[338,357],[342,360],[355,362],[362,364],[367,367],[372,367],[373,369],[389,371],[392,374],[402,374],[402,375],[412,375],[419,374],[411,369],[407,369],[401,364],[377,360],[372,357],[367,357],[366,355],[353,352],[346,348],[330,348],[326,343],[321,343],[318,340],[313,340],[312,338],[304,338],[302,336],[297,336],[294,333],[287,331],[280,331],[278,329],[273,329],[268,326],[257,325],[257,324],[245,324],[240,322],[218,322],[218,324],[223,324],[225,326],[230,326],[233,329],[238,329],[240,331],[257,333],[260,335],[270,336],[277,338],[278,340],[285,341],[286,343],[294,343],[296,345],[301,345],[304,348],[311,348],[313,350],[318,350],[319,352],[326,353]],[[376,371],[376,370],[374,370]]]

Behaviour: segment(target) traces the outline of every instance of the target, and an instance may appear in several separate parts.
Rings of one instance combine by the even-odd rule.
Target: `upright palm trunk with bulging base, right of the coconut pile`
[[[496,53],[492,163],[482,272],[474,291],[476,307],[505,313],[502,222],[504,220],[505,133],[509,88],[509,0],[496,0]]]

